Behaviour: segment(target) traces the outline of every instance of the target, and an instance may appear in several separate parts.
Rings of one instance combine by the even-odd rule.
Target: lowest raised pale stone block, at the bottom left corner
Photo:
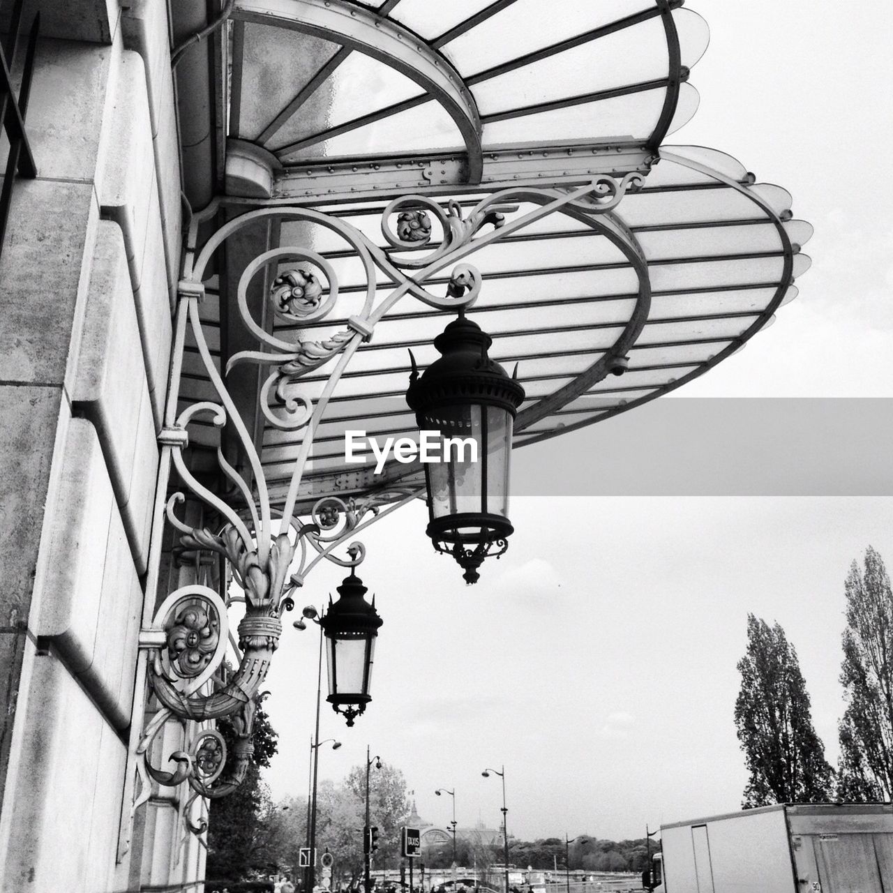
[[[3,889],[108,889],[126,747],[52,655],[33,660],[23,721]]]

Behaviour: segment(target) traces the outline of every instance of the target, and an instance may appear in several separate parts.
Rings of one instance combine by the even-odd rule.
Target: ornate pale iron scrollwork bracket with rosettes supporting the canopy
[[[483,198],[468,211],[455,201],[443,206],[426,196],[405,196],[392,201],[382,213],[385,247],[338,216],[302,207],[263,207],[229,221],[197,255],[188,254],[179,288],[175,374],[171,376],[169,408],[159,441],[184,488],[219,516],[221,524],[216,530],[208,530],[182,521],[176,512],[186,498],[182,490],[167,500],[165,514],[167,522],[179,532],[183,547],[226,559],[244,594],[246,613],[238,624],[238,666],[233,672],[226,672],[223,664],[230,639],[227,605],[212,588],[198,584],[179,588],[164,600],[143,630],[140,644],[147,654],[147,681],[159,708],[147,722],[137,748],[143,786],[134,808],[148,798],[150,780],[166,786],[188,782],[194,798],[220,797],[238,786],[251,757],[251,733],[260,688],[279,646],[281,614],[294,605],[296,588],[303,586],[307,573],[321,560],[342,566],[362,561],[363,546],[358,542],[350,544],[347,558],[339,557],[335,550],[367,524],[419,495],[421,481],[416,480],[363,499],[325,497],[313,506],[309,522],[296,519],[298,488],[313,444],[313,431],[346,364],[363,341],[371,337],[377,322],[406,295],[454,312],[472,305],[480,293],[481,276],[476,267],[467,263],[469,255],[550,213],[572,211],[591,216],[609,212],[628,189],[639,185],[641,178],[631,174],[621,181],[599,177],[569,192],[505,189]],[[526,209],[522,210],[522,205]],[[237,296],[241,322],[261,349],[231,356],[221,374],[199,318],[202,283],[208,263],[221,243],[255,221],[267,218],[302,221],[340,238],[363,266],[366,286],[362,307],[343,328],[323,338],[306,335],[307,326],[326,319],[338,305],[337,272],[326,257],[307,247],[280,246],[266,251],[247,264]],[[393,227],[391,221],[395,221]],[[277,319],[294,324],[293,331],[298,334],[292,339],[280,338],[264,328],[249,310],[249,285],[260,271],[270,269],[275,273],[267,301]],[[426,282],[446,269],[450,270],[446,294],[435,295]],[[393,284],[384,296],[377,270]],[[187,329],[216,399],[190,405],[178,415],[179,356]],[[260,388],[260,409],[271,426],[298,431],[301,437],[288,493],[277,511],[275,530],[260,456],[224,381],[242,363],[270,367]],[[327,363],[332,363],[332,368],[321,393],[313,398],[306,396],[301,392],[302,377]],[[238,511],[196,479],[184,460],[189,425],[199,418],[210,420],[218,429],[228,426],[238,439],[252,486],[220,448],[216,453],[222,475],[244,504]],[[159,487],[166,488],[166,476],[160,476]],[[222,773],[227,764],[227,748],[220,734],[210,728],[210,723],[222,717],[231,717],[237,732],[234,768],[226,776]],[[169,720],[197,729],[189,746],[171,755],[176,764],[172,771],[156,768],[150,760],[153,742]],[[196,832],[202,826],[191,820],[187,824]]]

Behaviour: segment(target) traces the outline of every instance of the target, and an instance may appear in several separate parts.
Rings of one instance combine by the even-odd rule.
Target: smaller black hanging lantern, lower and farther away
[[[329,697],[326,700],[337,714],[344,714],[347,725],[366,709],[371,701],[369,687],[375,654],[375,639],[382,620],[363,596],[363,580],[352,571],[338,587],[338,601],[321,617],[326,637],[329,664]],[[342,709],[343,708],[343,709]]]

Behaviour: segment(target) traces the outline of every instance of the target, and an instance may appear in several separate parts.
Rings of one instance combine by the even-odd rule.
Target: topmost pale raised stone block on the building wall
[[[146,255],[149,221],[157,216],[154,147],[143,60],[138,53],[125,50],[116,64],[114,101],[98,193],[103,216],[117,222],[124,234],[130,279],[136,291]]]

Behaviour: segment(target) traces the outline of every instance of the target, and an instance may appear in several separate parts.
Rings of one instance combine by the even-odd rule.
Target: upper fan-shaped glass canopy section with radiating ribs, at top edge
[[[230,136],[286,167],[539,141],[658,146],[708,30],[655,0],[237,0]]]

